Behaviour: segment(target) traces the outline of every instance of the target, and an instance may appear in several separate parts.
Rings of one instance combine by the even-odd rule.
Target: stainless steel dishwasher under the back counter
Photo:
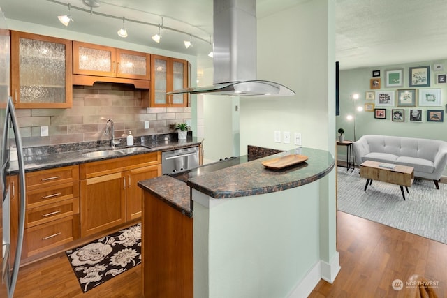
[[[198,147],[161,152],[162,174],[189,170],[198,165]]]

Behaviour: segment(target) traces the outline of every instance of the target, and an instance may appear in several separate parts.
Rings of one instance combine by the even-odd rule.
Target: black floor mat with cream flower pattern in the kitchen
[[[141,263],[141,223],[66,251],[83,292]]]

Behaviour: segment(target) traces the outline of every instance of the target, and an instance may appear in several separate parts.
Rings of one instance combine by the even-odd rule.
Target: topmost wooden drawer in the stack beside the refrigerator
[[[79,166],[57,167],[25,174],[27,191],[79,180]]]

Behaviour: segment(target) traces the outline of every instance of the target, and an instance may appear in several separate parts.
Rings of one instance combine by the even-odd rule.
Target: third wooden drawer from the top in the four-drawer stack
[[[79,214],[79,198],[27,210],[26,228]]]

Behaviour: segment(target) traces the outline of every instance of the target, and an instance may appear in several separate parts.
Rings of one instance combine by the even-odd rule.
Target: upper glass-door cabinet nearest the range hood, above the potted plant
[[[164,56],[151,55],[151,107],[186,107],[188,94],[166,92],[184,89],[188,86],[188,61]]]

